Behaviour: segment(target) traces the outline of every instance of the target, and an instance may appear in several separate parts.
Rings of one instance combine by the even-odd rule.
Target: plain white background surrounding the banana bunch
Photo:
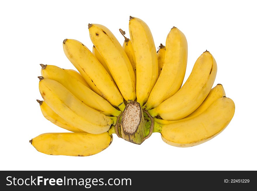
[[[256,5],[254,1],[1,1],[1,170],[257,170]],[[187,37],[185,80],[206,49],[218,64],[214,82],[235,102],[228,127],[190,148],[172,147],[154,133],[143,144],[114,135],[104,151],[88,157],[48,156],[31,138],[66,132],[47,121],[36,99],[40,63],[74,66],[63,53],[65,38],[89,49],[88,23],[107,26],[123,43],[129,16],[144,20],[155,46],[165,44],[173,26]],[[185,81],[184,81],[185,82]],[[126,165],[131,164],[131,165]]]

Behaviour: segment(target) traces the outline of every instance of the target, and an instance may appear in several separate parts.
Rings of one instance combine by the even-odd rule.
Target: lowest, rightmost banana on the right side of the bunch
[[[183,122],[159,125],[162,140],[176,147],[192,147],[204,143],[225,129],[235,113],[232,99],[223,97],[214,101],[200,115]]]

